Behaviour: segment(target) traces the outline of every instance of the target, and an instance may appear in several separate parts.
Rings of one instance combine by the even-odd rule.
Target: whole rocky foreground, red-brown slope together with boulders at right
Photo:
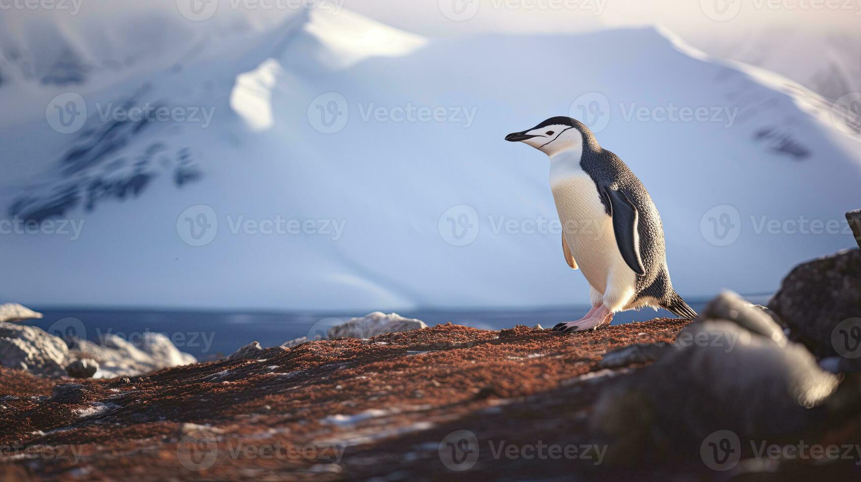
[[[109,380],[0,368],[0,480],[858,479],[859,277],[861,250],[828,256],[771,310],[723,294],[692,323],[410,325]]]

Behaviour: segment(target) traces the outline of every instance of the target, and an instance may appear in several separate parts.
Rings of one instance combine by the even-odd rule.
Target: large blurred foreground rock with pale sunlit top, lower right
[[[699,446],[717,430],[743,441],[798,433],[833,413],[829,398],[839,383],[808,349],[786,340],[766,312],[729,293],[711,301],[671,345],[629,347],[604,358],[608,364],[657,359],[640,376],[604,389],[594,406],[592,429],[613,439],[617,460],[644,446],[662,455]]]

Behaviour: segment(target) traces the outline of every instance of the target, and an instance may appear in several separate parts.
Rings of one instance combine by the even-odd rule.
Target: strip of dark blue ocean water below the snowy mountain
[[[764,303],[768,297],[748,296],[754,303]],[[691,300],[699,311],[704,300]],[[364,312],[350,313],[288,313],[288,312],[179,312],[144,310],[100,310],[81,308],[45,308],[30,306],[45,314],[45,318],[28,321],[55,335],[83,337],[98,342],[111,334],[130,343],[138,344],[147,331],[164,333],[182,351],[200,360],[218,355],[230,355],[239,347],[260,342],[263,347],[280,345],[298,337],[313,337],[325,332],[329,326],[362,316]],[[435,324],[463,324],[485,330],[511,328],[517,324],[544,328],[561,321],[578,319],[588,306],[554,307],[546,309],[485,309],[485,310],[419,310],[399,312],[406,318],[418,318],[428,326]],[[669,312],[644,309],[639,312],[622,312],[613,324],[646,321],[656,317],[671,317]]]

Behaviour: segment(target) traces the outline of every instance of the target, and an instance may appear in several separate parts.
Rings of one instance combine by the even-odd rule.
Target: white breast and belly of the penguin
[[[613,219],[604,209],[595,182],[579,167],[579,158],[552,162],[550,187],[568,249],[589,284],[601,294],[609,290],[613,298],[633,296],[636,274],[619,251]]]

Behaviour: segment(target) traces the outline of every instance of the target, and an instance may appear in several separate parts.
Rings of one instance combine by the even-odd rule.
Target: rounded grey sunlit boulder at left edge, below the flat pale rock
[[[59,337],[40,328],[0,323],[0,365],[51,377],[65,375],[69,349]]]

